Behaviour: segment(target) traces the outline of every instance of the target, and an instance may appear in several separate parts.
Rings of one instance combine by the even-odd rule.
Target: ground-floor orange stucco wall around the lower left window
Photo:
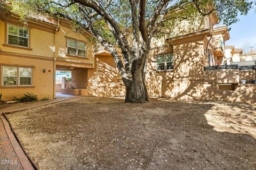
[[[27,58],[26,58],[27,59]],[[3,100],[12,100],[14,96],[21,97],[25,92],[33,92],[38,95],[38,98],[49,97],[52,98],[55,86],[54,82],[54,63],[52,60],[40,60],[29,58],[25,60],[23,57],[6,56],[0,54],[1,66],[13,65],[13,66],[33,66],[33,86],[29,87],[0,87],[0,93],[3,94]],[[29,62],[28,62],[29,61]],[[46,70],[43,73],[43,70]],[[50,71],[50,72],[49,72]],[[2,74],[2,73],[0,73]],[[1,79],[2,81],[2,79]],[[2,82],[1,82],[2,84]]]

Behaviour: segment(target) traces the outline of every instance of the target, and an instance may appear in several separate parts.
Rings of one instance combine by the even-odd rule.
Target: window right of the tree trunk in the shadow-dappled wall
[[[173,54],[159,55],[156,57],[157,70],[172,70],[173,69]]]

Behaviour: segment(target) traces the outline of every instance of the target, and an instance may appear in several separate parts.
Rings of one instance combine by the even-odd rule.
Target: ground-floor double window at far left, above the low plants
[[[3,66],[3,86],[17,86],[17,85],[19,86],[32,85],[32,68]]]

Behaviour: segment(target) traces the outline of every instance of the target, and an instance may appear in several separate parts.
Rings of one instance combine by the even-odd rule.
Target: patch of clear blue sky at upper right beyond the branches
[[[230,40],[226,45],[234,45],[235,48],[244,48],[245,45],[256,50],[256,12],[252,9],[246,16],[239,16],[240,21],[229,26]],[[247,49],[249,50],[249,49]]]

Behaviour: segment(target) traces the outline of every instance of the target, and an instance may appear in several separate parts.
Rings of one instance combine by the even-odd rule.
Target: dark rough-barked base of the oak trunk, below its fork
[[[142,78],[141,72],[132,74],[132,81],[126,86],[125,102],[126,103],[147,103],[148,91],[145,80]]]

